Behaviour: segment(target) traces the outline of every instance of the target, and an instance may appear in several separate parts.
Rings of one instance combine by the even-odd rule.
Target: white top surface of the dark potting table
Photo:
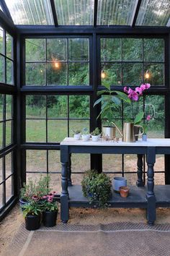
[[[73,137],[66,137],[61,145],[73,145],[73,146],[128,146],[128,147],[170,147],[170,139],[148,139],[147,142],[143,142],[141,139],[138,139],[136,142],[114,142],[113,140],[103,140],[100,139],[97,142],[92,141],[91,139],[88,141],[75,140]]]

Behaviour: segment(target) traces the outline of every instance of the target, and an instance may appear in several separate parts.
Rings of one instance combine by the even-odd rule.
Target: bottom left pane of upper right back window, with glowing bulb
[[[102,85],[104,81],[109,82],[110,85],[122,84],[122,64],[119,63],[102,63],[101,64],[101,78]]]

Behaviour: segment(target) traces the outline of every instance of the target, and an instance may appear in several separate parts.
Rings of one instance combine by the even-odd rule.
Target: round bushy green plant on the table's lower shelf
[[[94,207],[106,208],[111,193],[111,181],[107,174],[98,174],[96,170],[85,171],[81,182],[84,197]]]

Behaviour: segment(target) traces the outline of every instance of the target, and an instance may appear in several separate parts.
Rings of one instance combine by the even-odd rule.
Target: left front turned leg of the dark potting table
[[[67,223],[69,219],[68,205],[68,147],[61,146],[61,221]]]

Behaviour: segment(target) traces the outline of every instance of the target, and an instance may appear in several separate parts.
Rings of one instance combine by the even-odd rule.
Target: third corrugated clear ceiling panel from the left
[[[130,25],[135,0],[99,0],[97,25]]]

